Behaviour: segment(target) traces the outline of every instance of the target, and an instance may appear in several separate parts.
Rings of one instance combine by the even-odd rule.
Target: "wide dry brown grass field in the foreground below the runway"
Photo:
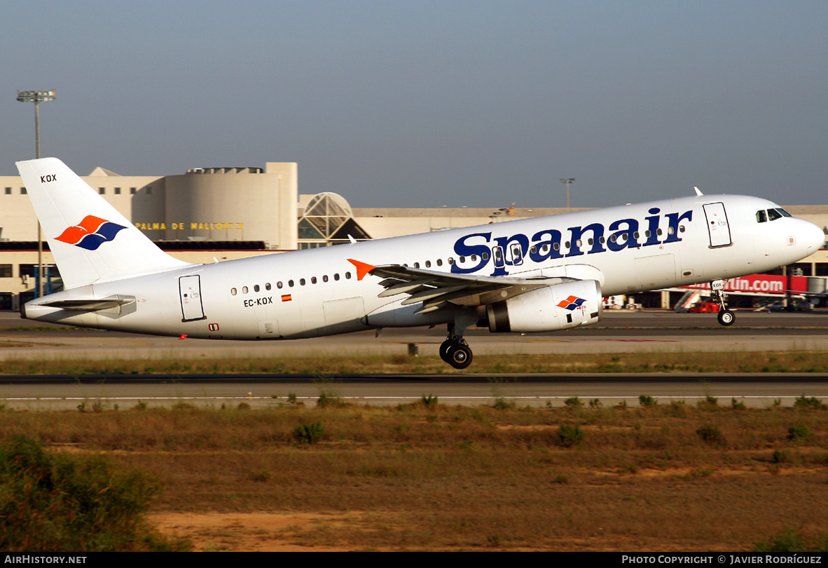
[[[697,433],[711,422],[713,434]],[[256,538],[348,550],[733,551],[780,527],[828,532],[815,498],[828,411],[810,407],[0,412],[0,439],[24,433],[55,457],[103,454],[111,472],[146,472],[162,483],[151,512],[224,516],[198,545],[223,550],[234,546],[226,518],[242,512],[357,515]],[[711,509],[711,495],[728,506]],[[784,506],[758,514],[768,503]]]

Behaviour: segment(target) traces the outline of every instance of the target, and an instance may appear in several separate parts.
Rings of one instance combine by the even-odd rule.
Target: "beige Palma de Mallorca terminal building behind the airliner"
[[[195,167],[171,176],[121,176],[96,167],[82,177],[150,239],[188,262],[214,262],[355,240],[441,231],[535,216],[565,208],[364,208],[335,192],[301,195],[296,163],[264,167]],[[17,176],[0,177],[0,309],[17,309],[36,294],[37,219]],[[786,206],[823,227],[828,206]],[[790,267],[828,276],[828,251]],[[47,291],[60,286],[48,247]]]

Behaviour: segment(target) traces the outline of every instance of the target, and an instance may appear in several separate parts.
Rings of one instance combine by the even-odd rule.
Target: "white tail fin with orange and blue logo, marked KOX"
[[[152,240],[57,158],[17,163],[65,287],[190,266]]]

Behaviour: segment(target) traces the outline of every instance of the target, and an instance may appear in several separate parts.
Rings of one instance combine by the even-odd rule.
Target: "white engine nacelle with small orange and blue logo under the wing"
[[[595,323],[603,311],[597,280],[534,289],[486,306],[490,332],[553,332]]]

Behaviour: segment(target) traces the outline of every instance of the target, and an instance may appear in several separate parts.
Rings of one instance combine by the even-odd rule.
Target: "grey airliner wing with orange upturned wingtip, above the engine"
[[[349,259],[350,260],[350,259]],[[508,278],[491,276],[474,276],[471,274],[450,274],[411,268],[401,265],[364,265],[350,260],[358,268],[358,274],[371,274],[383,281],[384,288],[379,298],[388,298],[398,294],[408,294],[402,305],[422,302],[422,308],[416,313],[427,313],[444,308],[447,303],[473,308],[523,294],[529,290],[570,282],[574,278],[560,276],[552,278]],[[363,270],[360,270],[362,265]],[[361,278],[360,278],[361,279]]]

